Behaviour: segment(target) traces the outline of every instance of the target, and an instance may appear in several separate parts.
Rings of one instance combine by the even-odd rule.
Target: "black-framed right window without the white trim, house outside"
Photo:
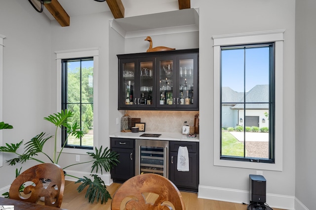
[[[221,47],[221,159],[274,163],[274,43]]]

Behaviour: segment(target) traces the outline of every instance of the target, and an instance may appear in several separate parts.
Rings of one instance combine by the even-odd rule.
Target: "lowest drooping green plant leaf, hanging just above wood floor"
[[[82,182],[79,187],[77,188],[78,192],[81,192],[86,186],[88,186],[87,192],[85,194],[85,198],[89,199],[90,203],[93,203],[95,198],[97,199],[97,202],[101,200],[101,204],[103,202],[107,202],[109,198],[111,198],[111,195],[109,191],[107,190],[107,187],[101,178],[99,178],[97,175],[90,175],[94,177],[94,180],[91,181],[90,179],[83,177],[76,181],[75,183]],[[111,198],[112,199],[112,198]]]

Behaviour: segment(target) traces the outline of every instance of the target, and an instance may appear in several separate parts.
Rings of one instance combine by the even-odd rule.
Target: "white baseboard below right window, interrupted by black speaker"
[[[249,191],[210,186],[198,186],[198,198],[226,201],[232,203],[249,203]],[[294,196],[267,193],[267,204],[271,208],[294,210]],[[304,205],[303,205],[304,206]],[[300,209],[299,209],[300,210]],[[307,210],[307,209],[302,209]]]

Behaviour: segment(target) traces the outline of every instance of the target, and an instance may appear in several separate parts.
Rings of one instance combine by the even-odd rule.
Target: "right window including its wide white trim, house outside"
[[[283,33],[212,37],[214,165],[282,170]]]

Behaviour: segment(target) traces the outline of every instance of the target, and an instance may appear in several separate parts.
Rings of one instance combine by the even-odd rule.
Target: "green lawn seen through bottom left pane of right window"
[[[243,157],[243,142],[228,131],[222,131],[222,155]]]

